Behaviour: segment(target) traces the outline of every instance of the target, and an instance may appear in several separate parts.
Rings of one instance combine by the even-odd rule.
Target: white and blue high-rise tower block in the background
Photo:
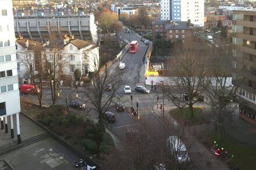
[[[204,0],[161,0],[161,20],[188,21],[204,26]]]

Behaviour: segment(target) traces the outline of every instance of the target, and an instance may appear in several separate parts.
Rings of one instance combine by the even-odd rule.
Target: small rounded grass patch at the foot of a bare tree
[[[205,124],[205,120],[201,116],[204,107],[193,107],[193,110],[194,118],[192,119],[189,107],[184,107],[182,111],[180,111],[179,108],[176,108],[175,110],[172,110],[170,114],[172,114],[172,116],[182,125],[194,126]]]

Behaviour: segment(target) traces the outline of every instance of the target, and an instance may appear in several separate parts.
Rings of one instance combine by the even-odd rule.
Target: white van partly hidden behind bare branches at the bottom
[[[179,163],[190,161],[189,153],[182,140],[178,136],[169,136],[167,139],[167,147],[171,153],[177,153],[177,161]]]

